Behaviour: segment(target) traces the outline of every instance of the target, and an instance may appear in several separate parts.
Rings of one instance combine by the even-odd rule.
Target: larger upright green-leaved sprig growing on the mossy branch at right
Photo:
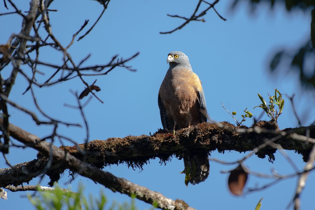
[[[272,121],[276,121],[278,120],[278,117],[280,116],[280,114],[282,113],[282,110],[284,108],[284,99],[282,99],[282,95],[277,89],[275,90],[275,95],[274,96],[270,96],[268,93],[268,97],[269,97],[269,105],[267,105],[265,99],[258,94],[259,99],[261,100],[262,104],[260,104],[259,106],[255,106],[254,109],[256,107],[260,107],[262,108],[268,115],[268,117],[270,117],[270,119]],[[278,96],[279,94],[279,96]],[[275,109],[275,105],[278,105],[279,107],[279,112],[277,109]]]

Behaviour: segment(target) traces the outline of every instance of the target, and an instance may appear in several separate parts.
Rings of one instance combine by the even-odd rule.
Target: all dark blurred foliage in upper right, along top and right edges
[[[292,12],[293,9],[308,12],[308,9],[314,8],[310,14],[312,16],[310,39],[295,49],[283,48],[272,53],[274,56],[270,62],[270,71],[281,72],[280,77],[289,73],[284,72],[286,70],[298,71],[302,86],[315,88],[315,0],[234,0],[231,8],[235,9],[239,3],[244,2],[249,3],[252,10],[266,4],[270,5],[270,9],[276,4],[284,4],[288,12]]]

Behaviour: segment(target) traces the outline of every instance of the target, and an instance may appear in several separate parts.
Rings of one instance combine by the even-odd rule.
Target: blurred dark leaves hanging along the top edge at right
[[[282,3],[288,11],[295,8],[305,11],[308,7],[315,7],[315,0],[234,0],[231,8],[234,9],[237,4],[242,2],[248,2],[253,10],[257,8],[259,3],[267,3],[271,9],[275,3]]]

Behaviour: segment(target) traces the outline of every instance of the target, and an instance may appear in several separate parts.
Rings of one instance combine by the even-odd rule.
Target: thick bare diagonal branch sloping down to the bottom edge
[[[0,118],[0,124],[2,123],[3,119]],[[146,203],[152,205],[153,203],[156,203],[157,207],[161,209],[193,209],[191,207],[188,207],[188,205],[184,201],[174,201],[163,196],[159,192],[149,190],[146,187],[134,184],[126,179],[115,177],[111,173],[102,171],[99,168],[93,167],[86,162],[80,161],[69,153],[61,150],[54,145],[51,145],[46,141],[41,141],[39,137],[28,133],[17,126],[10,124],[9,130],[10,135],[14,139],[40,151],[46,157],[49,157],[49,153],[52,152],[53,160],[55,163],[57,162],[59,164],[62,164],[63,167],[68,168],[95,182],[98,182],[114,192],[117,191],[129,196],[135,195],[137,199],[145,201]],[[2,180],[5,175],[6,174],[4,173],[0,173],[0,180]],[[6,187],[7,185],[0,185],[0,187]]]

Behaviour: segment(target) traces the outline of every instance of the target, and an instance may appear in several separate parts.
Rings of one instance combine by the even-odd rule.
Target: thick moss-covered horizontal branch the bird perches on
[[[0,123],[2,122],[3,120],[0,118]],[[164,133],[163,130],[159,130],[151,136],[140,135],[93,140],[87,144],[85,151],[83,151],[84,144],[61,146],[61,150],[55,148],[60,157],[56,159],[54,156],[54,163],[47,173],[51,179],[49,184],[52,185],[54,181],[58,181],[60,174],[64,173],[67,168],[73,173],[82,173],[78,168],[70,167],[70,163],[67,163],[65,160],[66,154],[70,154],[71,157],[76,158],[78,161],[83,160],[83,154],[85,154],[87,163],[100,169],[117,163],[126,163],[128,167],[141,168],[151,158],[157,157],[162,162],[166,162],[172,156],[180,157],[185,150],[200,152],[211,152],[213,150],[218,150],[219,152],[226,150],[251,151],[253,148],[263,144],[264,139],[271,139],[275,136],[279,136],[275,143],[281,145],[285,150],[295,150],[302,154],[304,159],[307,159],[312,145],[315,143],[315,126],[287,128],[282,131],[273,130],[275,127],[266,121],[258,122],[255,128],[243,127],[237,129],[228,122],[222,122],[222,126],[224,128],[220,128],[215,123],[201,123],[196,127],[176,131],[175,136],[173,133]],[[307,129],[310,131],[309,137],[305,136]],[[30,181],[43,172],[48,161],[49,150],[38,149],[36,148],[37,145],[30,145],[32,143],[21,140],[27,138],[27,136],[21,136],[19,133],[20,131],[16,130],[11,136],[41,153],[38,153],[37,159],[33,161],[0,169],[0,187],[10,184],[17,186]],[[265,147],[257,152],[257,156],[272,156],[275,151],[275,148]]]

